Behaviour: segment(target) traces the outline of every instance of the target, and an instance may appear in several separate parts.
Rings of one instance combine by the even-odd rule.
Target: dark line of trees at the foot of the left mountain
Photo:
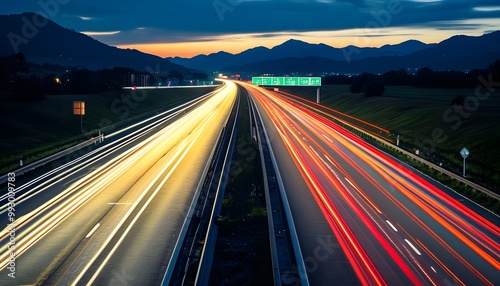
[[[27,62],[21,53],[0,57],[0,95],[14,94],[21,101],[41,100],[46,94],[119,90],[126,85],[139,86],[147,83],[155,86],[172,79],[182,82],[185,78],[206,80],[208,76],[195,71],[170,71],[153,75],[123,67],[88,70],[51,64],[39,65]]]

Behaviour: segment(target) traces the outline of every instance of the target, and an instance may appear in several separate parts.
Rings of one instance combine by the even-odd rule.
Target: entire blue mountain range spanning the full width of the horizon
[[[485,68],[500,59],[500,31],[482,36],[458,35],[436,44],[409,40],[380,48],[334,48],[291,39],[273,48],[259,46],[238,54],[221,51],[167,59],[103,44],[35,13],[0,15],[0,35],[0,57],[22,52],[29,62],[87,69],[348,74],[422,67],[466,71]]]

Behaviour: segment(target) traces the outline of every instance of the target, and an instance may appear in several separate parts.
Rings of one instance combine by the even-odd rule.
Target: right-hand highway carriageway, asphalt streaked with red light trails
[[[500,284],[498,216],[304,103],[241,85],[271,138],[311,285]]]

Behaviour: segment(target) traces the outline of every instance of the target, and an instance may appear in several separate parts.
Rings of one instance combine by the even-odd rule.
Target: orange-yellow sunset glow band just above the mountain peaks
[[[500,20],[496,19],[494,22],[500,25]],[[471,30],[470,33],[467,33],[468,36],[480,36],[482,34],[482,30]],[[375,30],[345,29],[339,31],[279,32],[273,33],[271,36],[269,34],[233,34],[214,36],[202,41],[122,44],[116,47],[136,49],[163,58],[191,58],[220,51],[238,54],[247,49],[260,46],[272,48],[290,39],[310,44],[326,44],[334,48],[344,48],[349,45],[381,47],[386,44],[395,45],[408,40],[418,40],[427,44],[439,43],[454,35],[457,35],[457,30],[454,29],[443,31],[431,28],[391,27]]]

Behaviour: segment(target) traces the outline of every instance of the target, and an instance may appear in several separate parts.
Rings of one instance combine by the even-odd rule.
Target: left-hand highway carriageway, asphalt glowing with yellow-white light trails
[[[236,96],[226,82],[155,116],[159,125],[110,134],[113,144],[20,182],[14,209],[2,196],[2,222],[9,211],[15,221],[0,235],[0,285],[160,284]]]

